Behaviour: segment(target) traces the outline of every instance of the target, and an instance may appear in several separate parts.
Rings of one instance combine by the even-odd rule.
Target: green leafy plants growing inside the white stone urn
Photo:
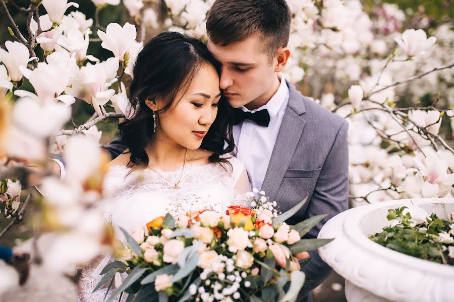
[[[434,213],[420,223],[412,218],[408,207],[389,209],[387,218],[392,220],[383,232],[369,239],[391,250],[409,256],[454,265],[454,219],[452,212],[447,221]]]

